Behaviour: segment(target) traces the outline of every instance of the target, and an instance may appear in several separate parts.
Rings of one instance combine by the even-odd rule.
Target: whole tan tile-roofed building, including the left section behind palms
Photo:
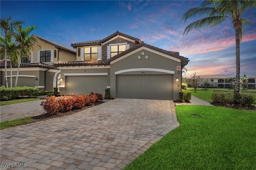
[[[101,93],[110,89],[112,98],[179,99],[181,70],[188,58],[115,32],[102,39],[71,43],[65,47],[39,36],[42,49],[35,47],[22,58],[19,86],[52,91],[61,95]],[[13,65],[13,81],[17,66]],[[1,85],[5,85],[4,60]],[[8,62],[10,82],[10,62]]]

